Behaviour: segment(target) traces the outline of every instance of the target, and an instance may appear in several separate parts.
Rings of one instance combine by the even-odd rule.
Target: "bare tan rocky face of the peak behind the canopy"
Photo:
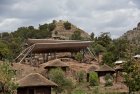
[[[85,31],[81,30],[80,28],[76,27],[75,25],[73,25],[72,23],[70,23],[70,28],[66,29],[64,24],[67,23],[67,21],[55,21],[55,29],[52,31],[52,37],[60,37],[62,39],[70,39],[71,35],[75,32],[75,31],[80,31],[81,32],[81,36],[84,39],[89,38],[89,34],[86,33]]]

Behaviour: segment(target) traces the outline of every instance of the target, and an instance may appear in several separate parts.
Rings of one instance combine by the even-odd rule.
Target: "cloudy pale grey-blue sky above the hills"
[[[0,32],[68,20],[84,31],[118,38],[140,22],[140,0],[0,0]]]

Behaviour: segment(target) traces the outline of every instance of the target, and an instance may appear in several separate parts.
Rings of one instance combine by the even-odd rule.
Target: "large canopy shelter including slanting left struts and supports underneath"
[[[80,40],[52,40],[52,39],[28,39],[28,47],[24,49],[19,56],[15,59],[16,62],[24,62],[26,58],[30,64],[36,64],[40,62],[35,56],[41,56],[43,63],[50,59],[56,58],[56,53],[69,52],[73,53],[82,52],[83,58],[85,49],[91,45],[91,41]]]

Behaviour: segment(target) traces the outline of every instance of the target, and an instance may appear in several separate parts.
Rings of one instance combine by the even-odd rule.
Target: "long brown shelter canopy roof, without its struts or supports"
[[[78,52],[91,45],[91,41],[79,40],[49,40],[49,39],[28,39],[27,44],[32,46],[32,53],[51,52]]]

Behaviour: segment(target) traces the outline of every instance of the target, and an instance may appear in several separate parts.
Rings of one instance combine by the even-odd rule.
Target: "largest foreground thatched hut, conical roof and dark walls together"
[[[51,88],[57,86],[39,73],[31,73],[17,83],[17,94],[51,94]]]

